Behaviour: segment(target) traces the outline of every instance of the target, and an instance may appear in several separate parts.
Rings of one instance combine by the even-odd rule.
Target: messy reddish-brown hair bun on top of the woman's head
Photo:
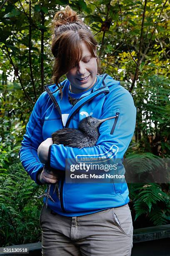
[[[74,23],[76,21],[82,23],[82,20],[81,18],[79,18],[79,15],[77,15],[77,13],[74,10],[72,10],[69,5],[67,5],[64,10],[60,10],[57,13],[55,13],[54,18],[52,20],[52,25],[54,27],[59,27],[66,23]]]

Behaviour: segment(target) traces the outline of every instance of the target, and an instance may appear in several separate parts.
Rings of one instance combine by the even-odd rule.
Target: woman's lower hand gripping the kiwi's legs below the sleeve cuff
[[[54,184],[58,181],[58,175],[50,171],[50,168],[44,166],[42,172],[38,174],[38,179],[42,184]]]

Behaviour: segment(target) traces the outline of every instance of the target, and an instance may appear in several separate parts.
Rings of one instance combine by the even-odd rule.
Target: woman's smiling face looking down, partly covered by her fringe
[[[90,53],[87,45],[82,44],[82,59],[77,66],[67,72],[66,77],[70,81],[70,91],[80,93],[89,90],[96,82],[97,61]]]

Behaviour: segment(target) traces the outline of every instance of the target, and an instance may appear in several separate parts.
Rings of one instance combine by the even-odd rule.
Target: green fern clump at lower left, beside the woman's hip
[[[42,200],[38,186],[21,163],[0,170],[0,247],[40,241]]]

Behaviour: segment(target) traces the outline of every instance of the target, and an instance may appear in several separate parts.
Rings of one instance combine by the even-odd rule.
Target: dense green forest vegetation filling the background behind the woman
[[[98,41],[101,74],[120,80],[137,108],[125,154],[139,176],[169,171],[170,52],[168,0],[5,0],[0,4],[0,246],[40,241],[42,200],[18,151],[32,108],[50,83],[50,22],[69,4]],[[63,79],[65,77],[62,77]],[[61,79],[62,81],[62,79]],[[143,162],[148,164],[144,164]],[[170,222],[170,184],[130,183],[134,228]]]

